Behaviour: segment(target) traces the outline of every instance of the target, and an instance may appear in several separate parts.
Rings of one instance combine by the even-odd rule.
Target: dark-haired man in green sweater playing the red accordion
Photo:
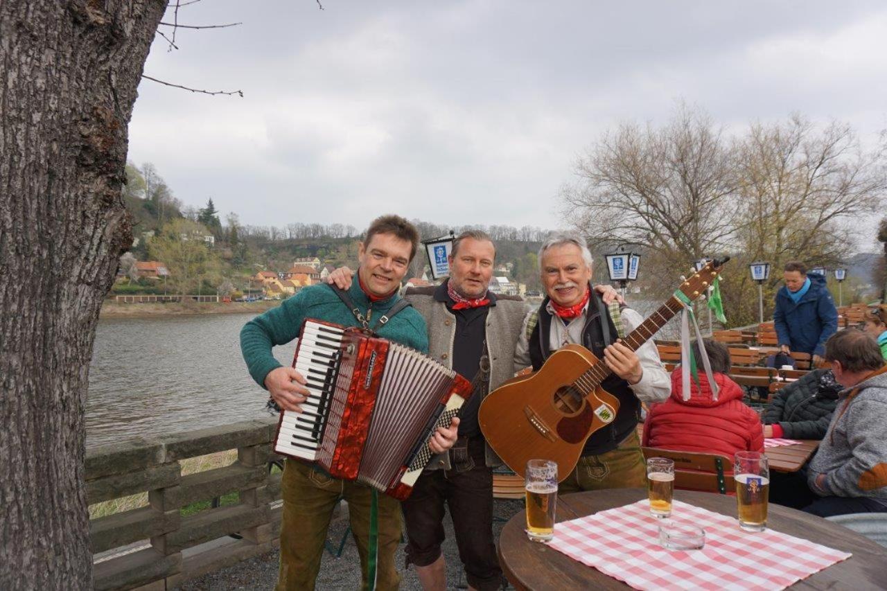
[[[402,217],[383,216],[373,220],[358,247],[357,281],[348,289],[363,319],[387,315],[401,299],[397,295],[412,257],[419,232]],[[346,327],[360,327],[352,312],[333,289],[326,285],[303,288],[279,307],[250,320],[240,333],[240,348],[255,382],[287,411],[302,412],[300,405],[309,391],[304,376],[281,366],[271,354],[274,345],[289,343],[299,336],[302,320],[325,320]],[[390,316],[373,329],[381,338],[402,343],[417,351],[428,351],[425,320],[410,307]],[[437,429],[429,441],[431,451],[443,453],[456,439],[459,420],[448,429]],[[364,587],[370,556],[370,511],[373,491],[357,481],[331,477],[316,465],[287,459],[282,479],[284,501],[280,530],[280,571],[277,588],[314,588],[323,555],[326,530],[340,498],[348,502],[349,519],[364,572]],[[379,589],[396,589],[400,583],[394,555],[400,541],[400,503],[378,495],[378,563],[375,584]]]

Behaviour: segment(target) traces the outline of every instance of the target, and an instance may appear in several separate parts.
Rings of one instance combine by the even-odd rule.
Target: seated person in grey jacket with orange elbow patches
[[[859,330],[828,338],[825,359],[844,386],[826,436],[807,469],[821,517],[887,511],[887,365],[878,343]]]

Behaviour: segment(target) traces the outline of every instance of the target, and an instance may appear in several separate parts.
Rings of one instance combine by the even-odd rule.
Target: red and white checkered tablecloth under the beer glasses
[[[702,550],[659,545],[648,500],[557,524],[552,548],[636,589],[782,589],[851,555],[674,501],[671,519],[705,529]]]

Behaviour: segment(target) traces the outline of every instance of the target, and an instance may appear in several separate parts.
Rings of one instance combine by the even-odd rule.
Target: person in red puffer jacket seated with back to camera
[[[699,368],[699,385],[690,378],[690,398],[685,400],[680,367],[671,373],[671,398],[650,407],[644,423],[643,445],[682,452],[719,453],[733,458],[742,451],[763,452],[764,432],[757,413],[742,404],[742,388],[730,379],[730,351],[723,343],[703,339],[711,373],[718,384],[712,394],[703,369],[699,344],[693,356]]]

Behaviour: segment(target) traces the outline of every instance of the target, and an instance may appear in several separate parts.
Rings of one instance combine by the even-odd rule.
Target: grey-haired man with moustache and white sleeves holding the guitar
[[[615,418],[585,442],[581,457],[559,493],[646,485],[644,457],[637,433],[641,402],[669,397],[671,382],[655,344],[637,351],[619,342],[643,322],[637,311],[606,304],[591,288],[592,255],[578,235],[561,234],[539,249],[539,268],[547,297],[524,319],[514,351],[514,367],[538,370],[569,343],[592,351],[613,372],[600,383],[616,397]]]

